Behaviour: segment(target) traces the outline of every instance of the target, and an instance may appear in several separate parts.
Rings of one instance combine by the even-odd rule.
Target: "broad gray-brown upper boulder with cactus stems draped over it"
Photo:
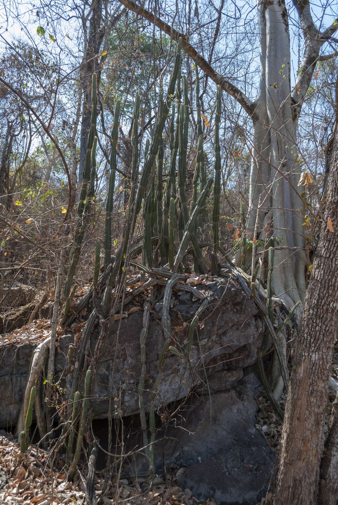
[[[206,377],[213,391],[234,387],[242,377],[242,369],[255,363],[257,350],[261,344],[264,325],[257,314],[252,299],[232,280],[209,278],[198,286],[208,298],[208,307],[200,318],[198,332],[189,354],[189,363],[170,355],[166,361],[160,386],[156,396],[156,406],[184,398],[189,392],[201,390]],[[161,327],[163,290],[149,325],[146,341],[147,377],[144,384],[144,403],[149,406],[149,398],[158,376],[158,361],[164,344]],[[134,305],[149,303],[144,295],[135,300]],[[185,347],[189,322],[195,316],[201,301],[192,298],[191,293],[173,291],[171,300],[172,345]],[[91,402],[95,418],[108,417],[120,412],[122,416],[135,414],[138,406],[138,382],[141,373],[139,335],[142,329],[142,310],[121,321],[112,323],[98,370],[95,398]],[[98,333],[99,328],[95,328]],[[93,356],[97,335],[93,332],[85,355],[87,368]],[[64,335],[59,339],[56,354],[56,375],[63,385],[68,346],[74,335]],[[77,337],[77,346],[81,339]],[[36,344],[38,340],[36,341]],[[76,367],[77,346],[73,359]],[[0,427],[10,429],[18,420],[20,405],[28,377],[34,345],[0,343]],[[113,411],[113,412],[112,412]]]

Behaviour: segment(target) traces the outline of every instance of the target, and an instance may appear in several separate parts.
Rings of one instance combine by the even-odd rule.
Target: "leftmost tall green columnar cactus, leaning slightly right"
[[[65,299],[65,316],[69,312],[70,307],[70,290],[72,287],[73,277],[75,273],[76,265],[79,261],[82,240],[84,237],[86,221],[89,216],[90,205],[87,203],[87,200],[90,199],[92,201],[93,196],[93,187],[94,187],[94,175],[91,177],[92,170],[95,170],[95,167],[92,166],[92,162],[95,163],[95,153],[93,152],[96,149],[96,141],[95,139],[95,128],[96,128],[96,116],[97,116],[97,91],[96,91],[96,74],[92,75],[91,79],[91,117],[90,117],[90,130],[87,139],[87,151],[86,158],[84,162],[83,168],[83,182],[80,191],[80,199],[77,208],[78,213],[78,221],[76,223],[75,229],[75,238],[74,244],[72,248],[71,254],[71,264],[68,270],[67,279],[64,287],[64,299]],[[88,189],[89,185],[89,189]]]

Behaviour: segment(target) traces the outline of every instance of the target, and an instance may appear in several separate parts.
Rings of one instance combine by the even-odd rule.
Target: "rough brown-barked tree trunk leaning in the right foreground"
[[[296,343],[273,505],[315,505],[318,500],[328,377],[338,327],[337,293],[338,137],[333,145],[323,224]],[[336,432],[336,425],[332,428],[332,433]],[[336,452],[336,447],[331,447],[324,460],[327,484],[333,488],[336,483],[330,483],[327,469],[337,460]],[[328,495],[332,497],[332,493]],[[335,505],[336,501],[322,503]]]

